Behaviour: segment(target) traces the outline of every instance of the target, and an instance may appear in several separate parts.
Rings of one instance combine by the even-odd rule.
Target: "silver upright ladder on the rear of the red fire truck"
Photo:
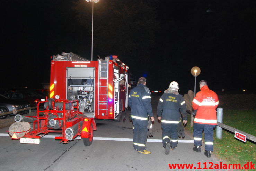
[[[101,112],[101,115],[107,114],[107,92],[108,92],[108,58],[98,59],[98,115],[99,110],[105,110]]]

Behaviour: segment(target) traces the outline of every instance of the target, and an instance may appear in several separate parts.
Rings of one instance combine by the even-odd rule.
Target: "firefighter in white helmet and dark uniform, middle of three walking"
[[[161,96],[157,106],[157,118],[161,121],[162,142],[165,148],[165,154],[169,154],[178,145],[177,125],[180,121],[180,112],[182,113],[184,125],[187,123],[186,104],[182,95],[178,92],[179,84],[171,82],[169,88]]]

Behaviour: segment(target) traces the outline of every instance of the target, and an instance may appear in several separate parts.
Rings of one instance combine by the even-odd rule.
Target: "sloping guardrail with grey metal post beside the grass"
[[[256,142],[256,137],[254,135],[248,134],[244,131],[238,130],[236,128],[230,127],[229,125],[225,125],[222,123],[222,115],[223,115],[223,109],[222,108],[218,108],[217,109],[217,128],[216,128],[216,137],[218,139],[222,138],[222,128],[231,131],[233,133],[235,132],[239,132],[242,133],[244,135],[246,135],[246,139],[251,140],[253,142]]]

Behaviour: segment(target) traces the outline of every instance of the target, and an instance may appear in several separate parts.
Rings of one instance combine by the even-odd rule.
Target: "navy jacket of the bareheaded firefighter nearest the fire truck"
[[[153,116],[150,91],[144,84],[138,84],[129,94],[128,104],[131,108],[131,118],[148,120]]]

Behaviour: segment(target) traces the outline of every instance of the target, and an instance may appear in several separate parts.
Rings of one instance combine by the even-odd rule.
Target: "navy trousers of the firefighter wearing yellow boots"
[[[148,120],[132,119],[133,123],[133,148],[138,151],[145,150],[148,137]]]

